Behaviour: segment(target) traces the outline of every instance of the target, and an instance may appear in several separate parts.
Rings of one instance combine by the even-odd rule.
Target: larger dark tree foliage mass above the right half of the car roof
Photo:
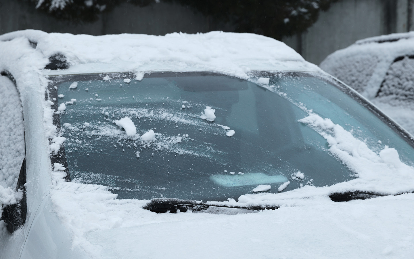
[[[275,39],[308,29],[338,0],[164,0],[193,7],[214,20],[233,25],[237,32],[252,32]],[[219,28],[220,29],[220,28]]]

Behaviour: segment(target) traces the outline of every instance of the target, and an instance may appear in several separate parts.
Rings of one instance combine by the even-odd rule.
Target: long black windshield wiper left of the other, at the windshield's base
[[[177,211],[186,212],[186,211],[205,211],[210,207],[221,207],[221,208],[239,208],[247,209],[251,211],[259,210],[274,210],[279,208],[279,206],[220,206],[220,205],[209,205],[206,203],[194,201],[194,200],[181,200],[176,198],[154,198],[149,201],[142,208],[156,212],[156,213],[176,213]]]

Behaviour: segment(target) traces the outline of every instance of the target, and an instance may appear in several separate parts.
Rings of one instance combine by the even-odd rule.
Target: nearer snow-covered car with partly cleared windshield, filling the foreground
[[[414,253],[413,139],[279,41],[17,31],[0,71],[1,258]]]

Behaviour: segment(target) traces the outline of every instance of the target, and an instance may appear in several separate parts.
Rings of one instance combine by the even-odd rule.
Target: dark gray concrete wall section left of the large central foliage
[[[72,34],[143,33],[164,35],[175,31],[188,33],[207,32],[212,29],[208,17],[193,10],[170,3],[154,3],[138,7],[125,3],[113,12],[102,14],[94,23],[69,24],[49,17],[22,0],[0,0],[0,34],[39,29],[47,32]]]

